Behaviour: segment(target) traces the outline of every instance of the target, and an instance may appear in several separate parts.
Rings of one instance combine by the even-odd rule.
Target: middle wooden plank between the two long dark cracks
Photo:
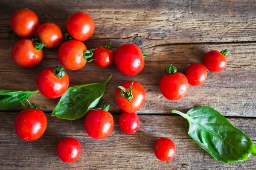
[[[94,40],[86,42],[90,48],[101,43],[103,42]],[[113,50],[119,45],[121,43],[113,44]],[[44,59],[39,65],[35,68],[21,68],[12,61],[11,48],[12,45],[6,48],[0,45],[0,89],[36,90],[35,80],[39,72],[59,65],[57,50],[44,49]],[[204,85],[190,86],[187,96],[179,101],[169,101],[160,93],[158,83],[164,75],[166,65],[173,63],[184,74],[188,65],[202,63],[207,51],[220,51],[225,48],[230,49],[227,68],[221,73],[208,72]],[[102,102],[113,102],[112,113],[121,112],[114,99],[116,87],[125,81],[134,80],[140,82],[147,93],[146,102],[138,113],[169,114],[173,109],[186,111],[197,105],[207,105],[225,116],[256,116],[256,43],[157,45],[143,50],[149,52],[149,57],[145,60],[145,67],[140,74],[129,77],[120,73],[114,64],[109,68],[99,68],[94,63],[87,63],[80,70],[66,70],[70,85],[105,81],[113,74],[102,98]],[[32,95],[30,100],[42,108],[46,107],[47,111],[52,111],[58,102],[58,99],[47,99],[40,94]]]

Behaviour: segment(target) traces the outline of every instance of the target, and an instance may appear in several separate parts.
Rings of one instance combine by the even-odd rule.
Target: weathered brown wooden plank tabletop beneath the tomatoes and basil
[[[6,31],[12,13],[20,8],[35,11],[41,23],[56,23],[63,31],[70,14],[84,11],[96,25],[93,36],[84,42],[88,48],[112,42],[115,51],[131,42],[149,55],[143,71],[132,77],[121,74],[114,64],[99,68],[87,63],[80,70],[66,70],[70,86],[101,82],[113,74],[100,102],[113,102],[110,112],[115,127],[107,139],[91,139],[84,130],[84,119],[51,117],[59,99],[40,94],[32,95],[30,101],[46,107],[48,125],[36,141],[23,141],[15,133],[15,116],[22,108],[0,111],[0,169],[256,169],[256,156],[230,164],[216,161],[188,136],[187,121],[171,113],[210,106],[256,144],[256,0],[0,0],[0,89],[36,90],[38,73],[60,65],[57,48],[44,48],[44,59],[34,68],[21,68],[12,61],[12,46],[19,38],[8,37]],[[173,102],[162,96],[158,82],[166,65],[173,63],[184,73],[188,65],[202,63],[207,51],[226,48],[230,54],[224,71],[208,71],[207,82],[190,86],[184,99]],[[145,105],[137,112],[140,129],[132,135],[119,129],[121,110],[114,100],[116,87],[128,80],[140,82],[147,93]],[[61,162],[55,152],[65,137],[81,142],[81,156],[72,164]],[[175,142],[177,153],[172,161],[161,162],[154,156],[153,145],[160,137]]]

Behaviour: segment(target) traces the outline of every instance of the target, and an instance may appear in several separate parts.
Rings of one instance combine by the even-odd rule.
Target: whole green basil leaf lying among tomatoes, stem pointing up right
[[[68,120],[83,117],[99,103],[99,99],[104,94],[106,84],[111,78],[112,75],[105,82],[68,88],[54,108],[52,116]]]

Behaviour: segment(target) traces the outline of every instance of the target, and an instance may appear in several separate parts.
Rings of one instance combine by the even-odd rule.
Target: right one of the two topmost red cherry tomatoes
[[[79,41],[85,41],[93,35],[95,25],[88,14],[76,12],[68,17],[66,28],[71,37]]]

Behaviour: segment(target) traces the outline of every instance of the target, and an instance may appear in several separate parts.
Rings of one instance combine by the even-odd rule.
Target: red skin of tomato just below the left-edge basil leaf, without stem
[[[15,118],[14,127],[17,135],[25,141],[40,138],[47,127],[47,118],[39,109],[21,111]]]

